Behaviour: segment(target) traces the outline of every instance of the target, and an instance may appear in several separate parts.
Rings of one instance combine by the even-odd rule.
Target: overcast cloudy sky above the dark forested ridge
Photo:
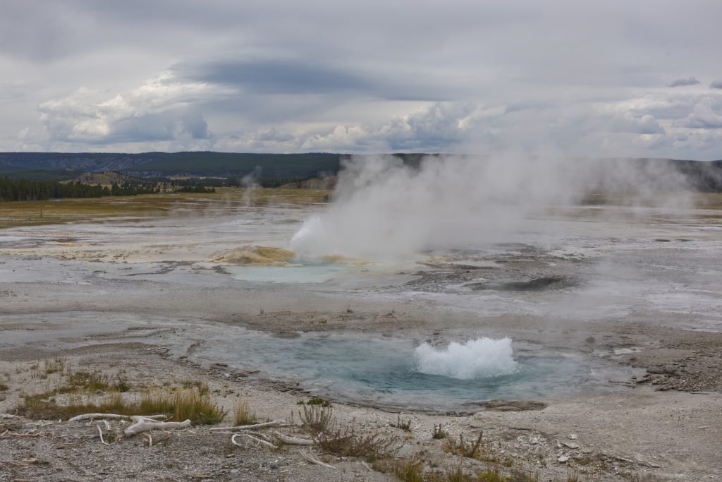
[[[0,2],[0,150],[722,159],[719,0]]]

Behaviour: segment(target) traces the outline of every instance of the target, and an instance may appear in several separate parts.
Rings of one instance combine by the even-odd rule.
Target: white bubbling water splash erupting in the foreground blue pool
[[[513,374],[517,371],[511,338],[481,337],[465,343],[449,343],[437,350],[428,343],[416,348],[416,369],[429,375],[474,379]]]

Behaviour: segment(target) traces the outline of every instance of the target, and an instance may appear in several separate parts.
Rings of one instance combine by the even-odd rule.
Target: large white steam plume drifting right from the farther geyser
[[[686,189],[664,161],[429,156],[412,167],[392,155],[359,156],[344,164],[333,201],[291,246],[313,256],[383,258],[509,242],[531,213],[591,191],[656,204],[686,202],[672,195]]]

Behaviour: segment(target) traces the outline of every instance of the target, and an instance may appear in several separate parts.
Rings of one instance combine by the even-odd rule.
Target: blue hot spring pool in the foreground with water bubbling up
[[[199,363],[261,370],[313,395],[413,410],[469,411],[469,402],[619,390],[622,369],[597,357],[552,353],[478,337],[432,347],[401,337],[305,333],[274,337],[240,328],[206,334]]]

